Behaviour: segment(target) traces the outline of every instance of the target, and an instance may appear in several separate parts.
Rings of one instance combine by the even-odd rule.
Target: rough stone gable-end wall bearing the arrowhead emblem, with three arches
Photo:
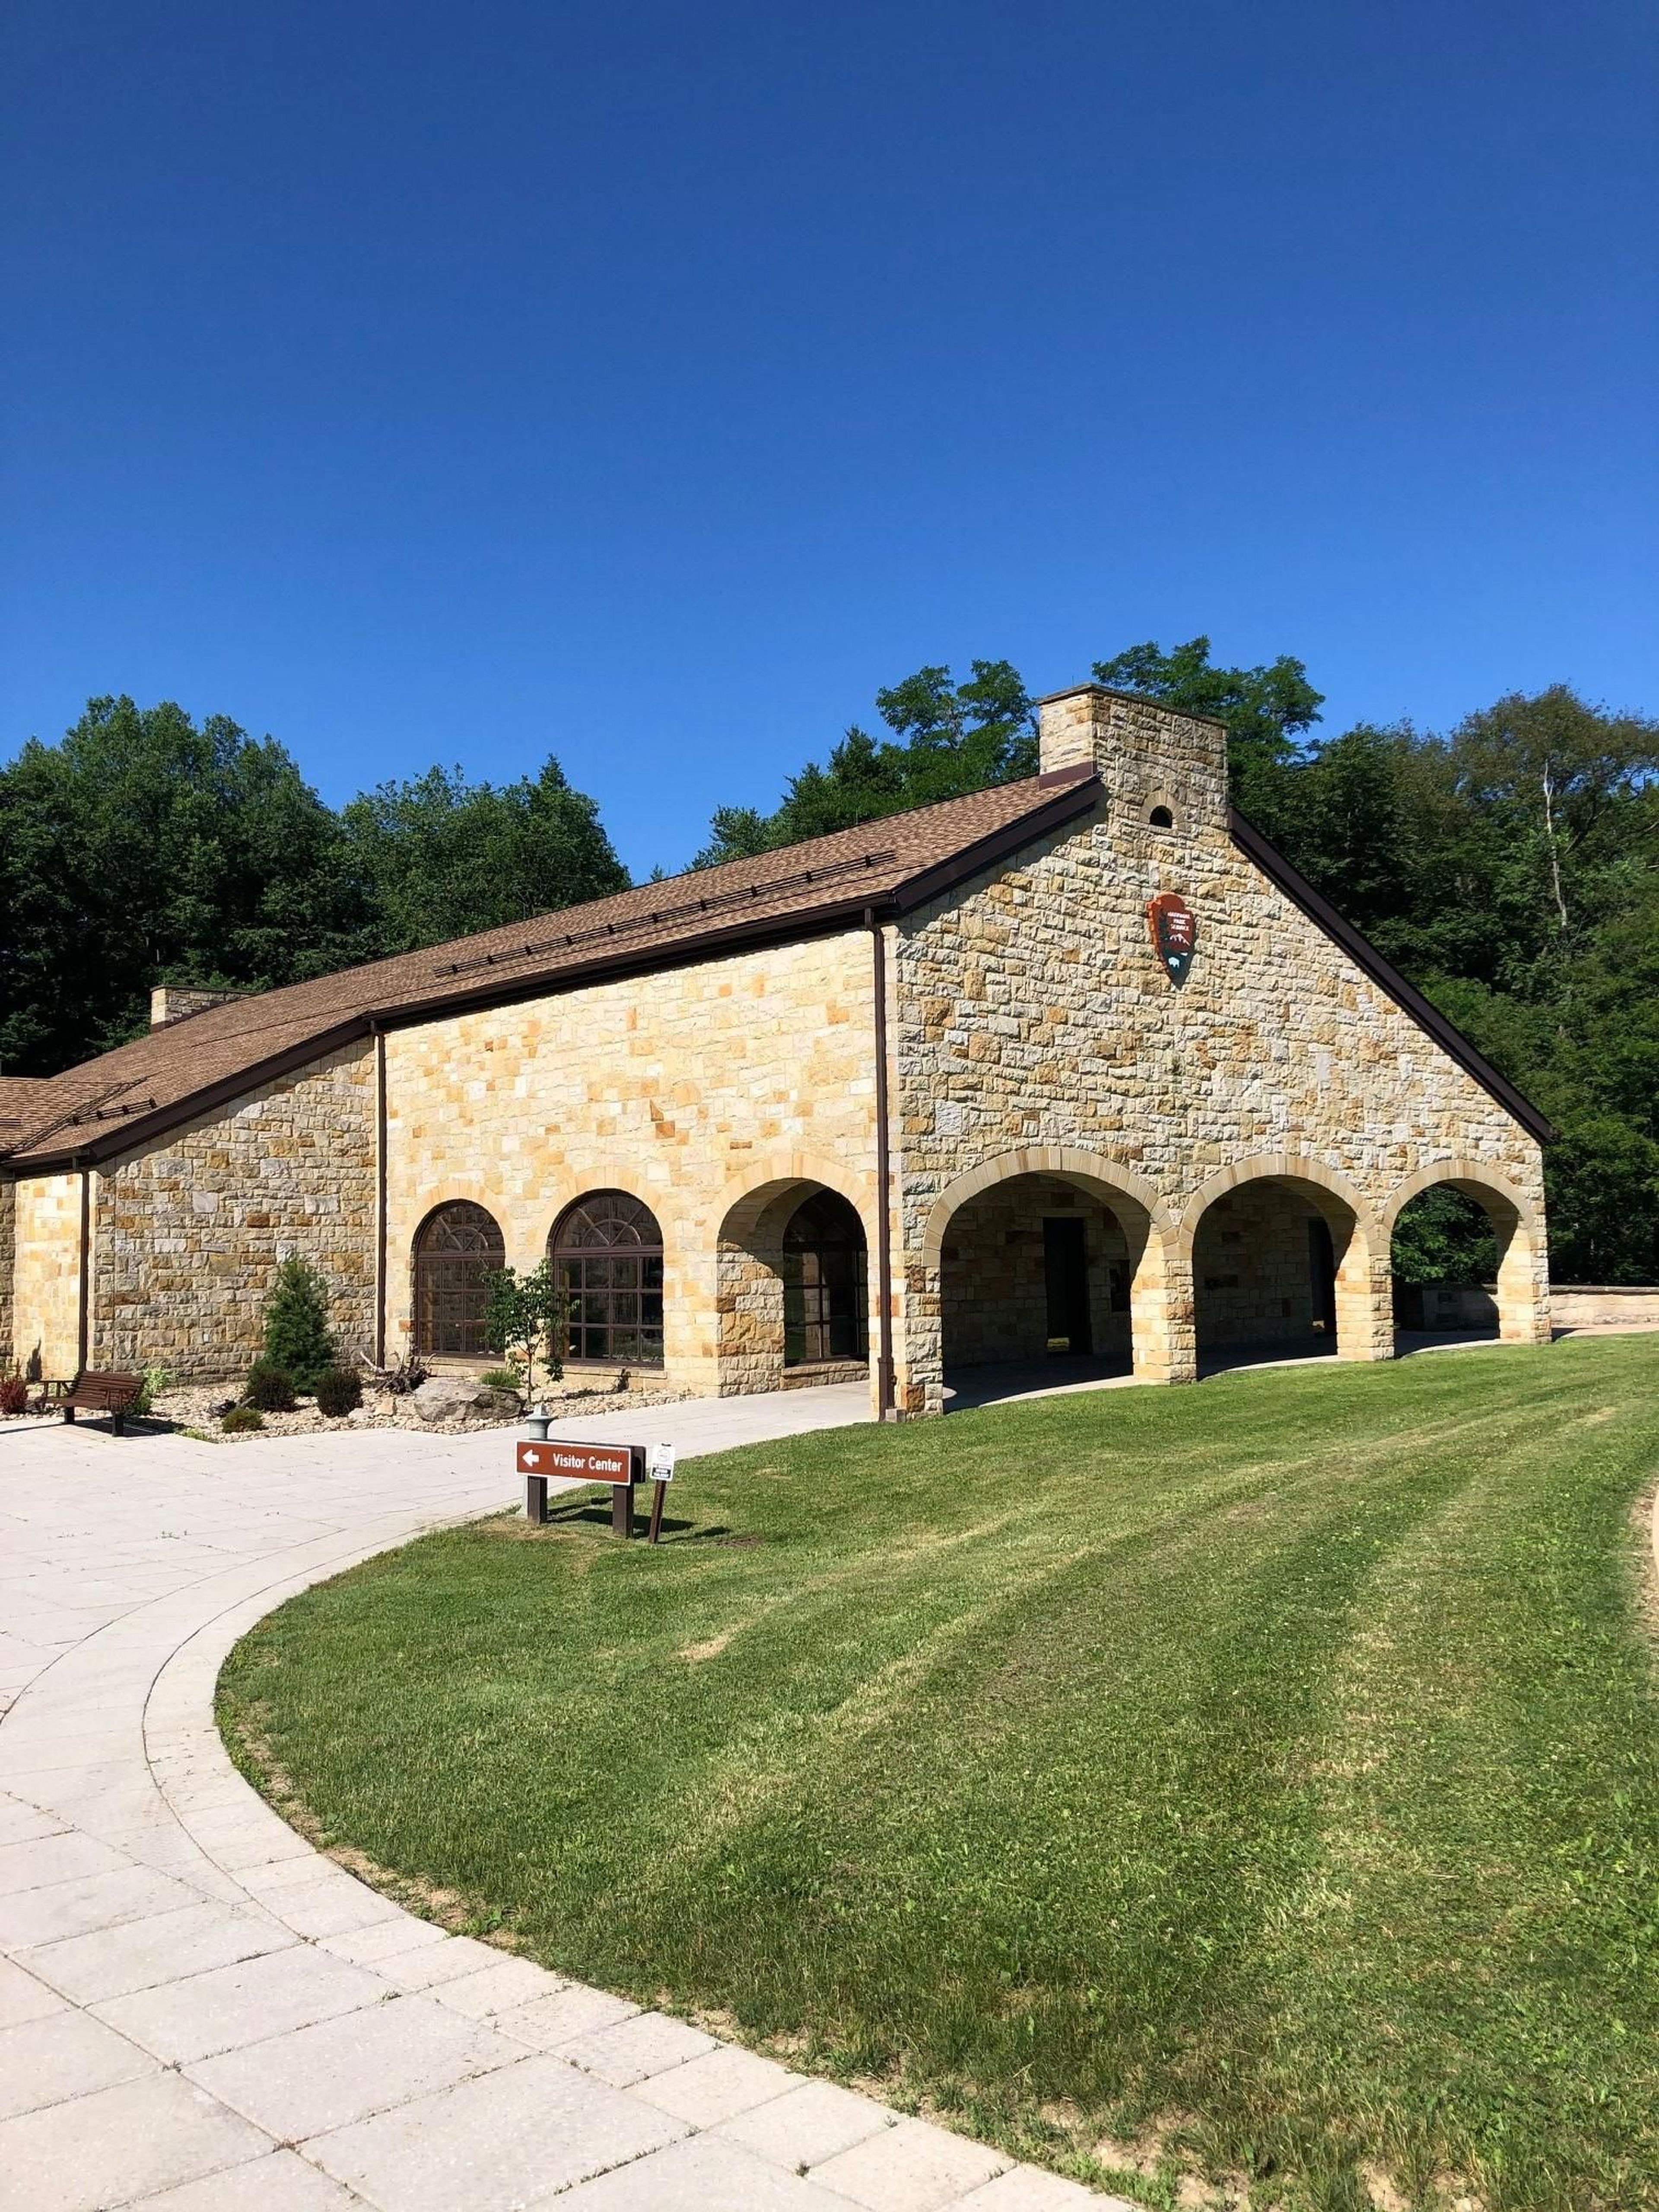
[[[947,1194],[1062,1155],[1135,1190],[1141,1230],[1157,1217],[1137,1276],[1137,1363],[1159,1334],[1164,1371],[1192,1371],[1197,1219],[1228,1183],[1261,1175],[1305,1177],[1349,1210],[1338,1332],[1352,1356],[1391,1345],[1389,1225],[1438,1177],[1517,1223],[1506,1334],[1548,1334],[1537,1144],[1239,852],[1221,734],[1206,732],[1161,712],[1130,730],[1095,723],[1095,745],[1135,745],[1133,772],[1102,754],[1097,812],[894,929],[907,1411],[938,1405]],[[1152,803],[1170,805],[1172,827],[1150,823]],[[1197,916],[1181,987],[1148,936],[1159,891]]]

